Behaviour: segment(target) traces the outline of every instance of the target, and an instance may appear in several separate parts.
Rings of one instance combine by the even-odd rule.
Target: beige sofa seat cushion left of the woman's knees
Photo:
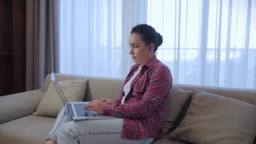
[[[56,118],[28,115],[0,125],[1,144],[43,144]]]

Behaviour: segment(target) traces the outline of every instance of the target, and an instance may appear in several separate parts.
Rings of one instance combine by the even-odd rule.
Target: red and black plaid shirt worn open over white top
[[[124,85],[139,69],[139,65],[134,64],[131,67]],[[121,96],[115,100],[116,105],[104,105],[105,115],[124,119],[123,139],[163,137],[160,127],[165,117],[172,81],[168,67],[154,56],[133,79],[131,90],[126,96],[124,104],[121,104],[124,96],[122,87]]]

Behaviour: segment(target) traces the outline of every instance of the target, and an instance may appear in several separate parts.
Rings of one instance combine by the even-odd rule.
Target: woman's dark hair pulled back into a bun
[[[133,27],[131,30],[132,33],[138,33],[141,36],[141,40],[149,45],[150,43],[155,44],[154,53],[157,51],[157,48],[163,43],[163,36],[160,33],[156,32],[155,29],[147,24],[139,24]]]

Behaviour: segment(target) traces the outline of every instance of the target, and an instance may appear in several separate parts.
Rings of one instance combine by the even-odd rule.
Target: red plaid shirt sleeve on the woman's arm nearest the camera
[[[158,67],[150,76],[147,89],[140,101],[127,104],[104,105],[104,114],[120,118],[148,117],[164,100],[171,89],[172,76],[167,67]]]

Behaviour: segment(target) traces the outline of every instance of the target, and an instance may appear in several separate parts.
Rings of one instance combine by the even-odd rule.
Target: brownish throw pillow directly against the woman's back
[[[170,131],[173,123],[181,112],[183,105],[191,94],[192,91],[184,91],[181,88],[172,86],[171,94],[167,103],[167,113],[161,127],[164,133]]]

